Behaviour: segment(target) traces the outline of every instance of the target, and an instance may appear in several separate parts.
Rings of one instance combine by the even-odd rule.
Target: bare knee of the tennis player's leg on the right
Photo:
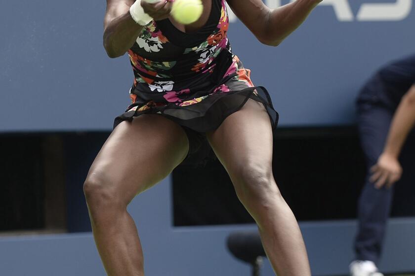
[[[270,166],[248,163],[239,170],[236,190],[243,204],[246,202],[267,202],[280,196]]]

